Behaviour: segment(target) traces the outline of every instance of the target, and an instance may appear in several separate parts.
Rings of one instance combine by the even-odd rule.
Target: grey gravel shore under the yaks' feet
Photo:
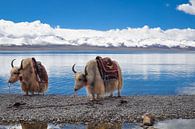
[[[0,123],[141,122],[144,113],[156,120],[195,118],[195,96],[124,96],[90,101],[87,97],[0,95]]]

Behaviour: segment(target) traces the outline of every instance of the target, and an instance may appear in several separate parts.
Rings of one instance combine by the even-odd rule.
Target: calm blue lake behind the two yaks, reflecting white
[[[72,95],[76,64],[83,71],[87,61],[96,56],[110,57],[120,64],[124,79],[122,95],[195,94],[195,52],[193,51],[1,51],[0,93],[9,93],[10,62],[19,66],[23,58],[35,57],[49,75],[46,94]],[[11,93],[23,94],[19,83]],[[86,95],[83,88],[79,95]]]

